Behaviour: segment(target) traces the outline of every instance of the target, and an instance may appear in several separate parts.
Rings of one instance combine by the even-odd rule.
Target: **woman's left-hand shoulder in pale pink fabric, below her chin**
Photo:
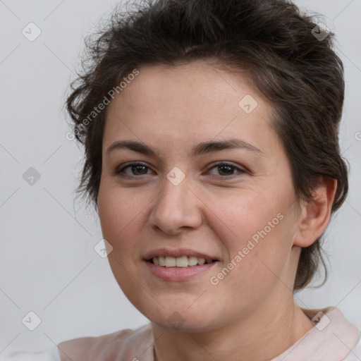
[[[58,349],[61,361],[133,360],[140,355],[144,358],[145,353],[152,355],[149,345],[153,341],[151,324],[146,324],[135,330],[63,341]]]

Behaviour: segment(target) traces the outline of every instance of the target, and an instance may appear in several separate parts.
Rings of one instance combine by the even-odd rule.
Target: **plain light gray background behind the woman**
[[[337,306],[361,329],[361,0],[295,2],[322,13],[336,32],[346,82],[340,141],[351,166],[348,199],[326,232],[329,281],[298,293],[295,301],[309,308]],[[74,202],[82,151],[66,140],[70,128],[61,109],[82,38],[114,4],[0,0],[2,355],[148,322],[121,292],[107,259],[94,252],[101,228]],[[34,42],[22,34],[30,22],[42,31]],[[23,179],[30,167],[41,176],[34,185]],[[42,320],[34,331],[22,323],[30,311]]]

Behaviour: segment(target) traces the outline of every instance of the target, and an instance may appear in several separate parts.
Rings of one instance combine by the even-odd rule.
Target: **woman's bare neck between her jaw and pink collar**
[[[279,307],[257,307],[211,331],[182,332],[152,323],[155,361],[269,361],[313,328],[293,298]]]

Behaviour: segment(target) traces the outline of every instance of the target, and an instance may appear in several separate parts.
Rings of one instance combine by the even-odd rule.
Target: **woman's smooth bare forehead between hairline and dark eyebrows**
[[[106,145],[119,138],[145,142],[150,135],[154,143],[179,145],[239,135],[261,147],[261,140],[274,136],[271,105],[241,73],[205,61],[138,71],[109,104]]]

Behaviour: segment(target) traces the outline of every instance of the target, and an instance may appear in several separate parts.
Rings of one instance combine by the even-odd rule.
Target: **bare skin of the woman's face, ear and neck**
[[[205,61],[139,71],[109,104],[103,138],[99,218],[113,247],[108,258],[116,281],[152,322],[159,361],[271,360],[313,327],[295,305],[293,283],[301,247],[329,223],[336,181],[322,181],[314,202],[298,203],[289,161],[270,126],[271,104],[244,75]],[[246,94],[258,103],[250,114],[238,106]],[[190,154],[200,142],[234,137],[262,154]],[[144,142],[159,159],[125,148],[106,154],[118,140]],[[145,168],[115,174],[132,161]],[[174,166],[185,174],[178,185],[166,178]],[[212,284],[209,279],[280,213],[283,219]],[[221,262],[190,281],[163,281],[143,261],[159,247],[190,248]],[[167,321],[173,312],[182,318],[178,329]]]

